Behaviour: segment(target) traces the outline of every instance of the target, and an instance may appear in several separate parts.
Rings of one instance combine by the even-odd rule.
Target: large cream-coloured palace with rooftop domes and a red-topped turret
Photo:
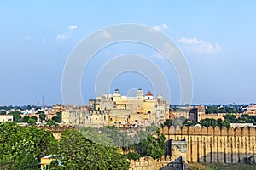
[[[169,103],[161,94],[157,98],[148,91],[137,90],[135,97],[121,95],[116,89],[113,94],[104,94],[89,100],[89,106],[67,106],[62,112],[62,123],[84,126],[149,126],[160,125],[169,114]]]

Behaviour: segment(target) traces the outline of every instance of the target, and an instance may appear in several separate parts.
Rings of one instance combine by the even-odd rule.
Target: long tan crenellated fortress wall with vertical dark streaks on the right
[[[244,157],[255,156],[256,130],[254,127],[163,127],[160,133],[166,142],[187,141],[188,162],[242,162]],[[171,148],[167,149],[171,150]],[[172,157],[172,152],[171,157]],[[254,161],[254,160],[253,160]]]

